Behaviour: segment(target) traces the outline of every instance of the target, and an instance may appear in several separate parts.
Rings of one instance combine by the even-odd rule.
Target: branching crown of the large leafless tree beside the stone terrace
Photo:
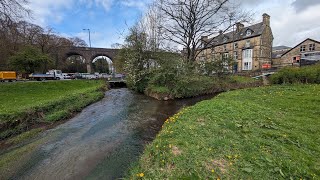
[[[248,17],[248,13],[232,8],[229,0],[160,0],[158,6],[164,38],[182,46],[188,62],[195,61],[206,48],[200,48],[201,37],[225,32]]]

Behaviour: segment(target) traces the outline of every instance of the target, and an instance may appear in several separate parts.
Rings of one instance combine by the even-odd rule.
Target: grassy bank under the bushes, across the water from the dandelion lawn
[[[181,76],[174,82],[150,81],[145,94],[156,99],[174,99],[194,97],[205,94],[228,91],[262,85],[260,80],[242,76]]]

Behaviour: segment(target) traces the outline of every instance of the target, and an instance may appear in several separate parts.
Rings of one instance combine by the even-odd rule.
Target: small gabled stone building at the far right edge
[[[320,42],[308,38],[282,54],[278,66],[303,66],[319,61]]]

